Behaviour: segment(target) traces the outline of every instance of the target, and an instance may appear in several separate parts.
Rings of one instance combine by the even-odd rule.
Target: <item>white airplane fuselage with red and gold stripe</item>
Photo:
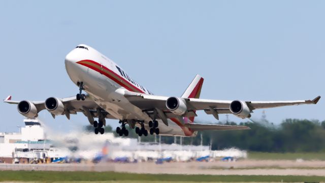
[[[148,122],[152,119],[124,97],[125,90],[152,95],[148,89],[133,80],[122,68],[99,51],[87,45],[78,47],[72,50],[65,60],[71,80],[75,84],[83,82],[85,91],[94,102],[115,118],[143,120],[148,130]],[[169,126],[161,120],[158,122],[161,135],[196,135],[172,120],[169,120]]]

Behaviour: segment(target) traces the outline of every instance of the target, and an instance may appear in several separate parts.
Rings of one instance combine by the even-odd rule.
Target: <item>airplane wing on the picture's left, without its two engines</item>
[[[64,105],[64,113],[66,116],[70,119],[70,114],[77,114],[77,112],[84,113],[85,116],[92,116],[96,117],[98,110],[103,111],[103,109],[97,105],[88,95],[86,95],[86,99],[84,101],[76,100],[76,97],[67,97],[67,98],[58,98]],[[11,96],[8,96],[4,102],[9,104],[18,104],[21,101],[12,101]],[[38,112],[46,109],[45,108],[45,101],[28,101],[35,105]],[[107,112],[106,112],[107,113]],[[53,117],[55,117],[55,114],[51,113]],[[89,115],[90,114],[90,115]],[[116,119],[109,113],[107,113],[106,118],[109,119]]]

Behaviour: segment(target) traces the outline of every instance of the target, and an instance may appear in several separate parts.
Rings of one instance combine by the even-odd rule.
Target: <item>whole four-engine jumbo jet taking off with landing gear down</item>
[[[200,99],[204,79],[196,75],[181,97],[153,95],[146,87],[130,77],[120,66],[94,48],[80,44],[66,55],[64,64],[70,79],[79,87],[76,96],[68,98],[50,97],[45,101],[13,101],[18,112],[25,117],[37,117],[44,109],[53,118],[82,112],[94,127],[95,134],[104,134],[106,119],[118,119],[119,136],[128,136],[127,124],[139,136],[196,136],[204,130],[249,130],[247,126],[228,126],[193,123],[196,111],[203,110],[217,120],[219,114],[234,114],[249,118],[255,109],[300,104],[316,104],[313,100],[298,101],[226,101]],[[83,91],[86,94],[83,94]],[[98,121],[94,120],[98,118]]]

